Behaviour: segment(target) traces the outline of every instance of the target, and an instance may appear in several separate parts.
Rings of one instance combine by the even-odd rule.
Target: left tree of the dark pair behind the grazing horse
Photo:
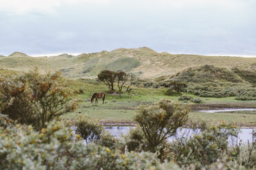
[[[98,80],[109,86],[109,90],[114,90],[114,82],[116,82],[116,73],[114,71],[104,70],[98,74]]]

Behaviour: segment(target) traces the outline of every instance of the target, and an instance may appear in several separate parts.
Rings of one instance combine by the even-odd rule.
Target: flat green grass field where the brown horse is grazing
[[[164,95],[166,89],[163,88],[135,88],[131,95],[128,95],[127,93],[122,93],[121,95],[110,95],[105,93],[106,104],[102,104],[101,99],[98,99],[98,104],[91,104],[89,99],[92,97],[93,93],[105,92],[108,89],[103,83],[90,81],[92,80],[70,80],[68,82],[67,86],[72,88],[72,90],[81,88],[84,93],[76,95],[79,103],[78,109],[63,115],[61,119],[76,119],[76,117],[81,114],[87,115],[89,118],[100,119],[102,123],[133,124],[134,122],[132,120],[136,113],[136,108],[141,104],[153,104],[160,99],[178,101],[178,96]],[[205,106],[206,108],[204,107],[204,109],[207,109],[209,106],[216,106],[216,104],[220,104],[222,108],[225,108],[225,106],[226,108],[239,108],[239,106],[243,108],[246,108],[247,106],[249,108],[256,108],[256,101],[237,101],[235,100],[235,97],[201,98],[203,99],[202,104],[193,105],[190,103],[193,105],[192,108],[194,108],[194,110],[189,113],[190,120],[198,121],[201,119],[207,122],[226,121],[236,123],[237,125],[256,127],[256,111],[207,113],[198,112],[196,110],[196,108],[202,106]]]

